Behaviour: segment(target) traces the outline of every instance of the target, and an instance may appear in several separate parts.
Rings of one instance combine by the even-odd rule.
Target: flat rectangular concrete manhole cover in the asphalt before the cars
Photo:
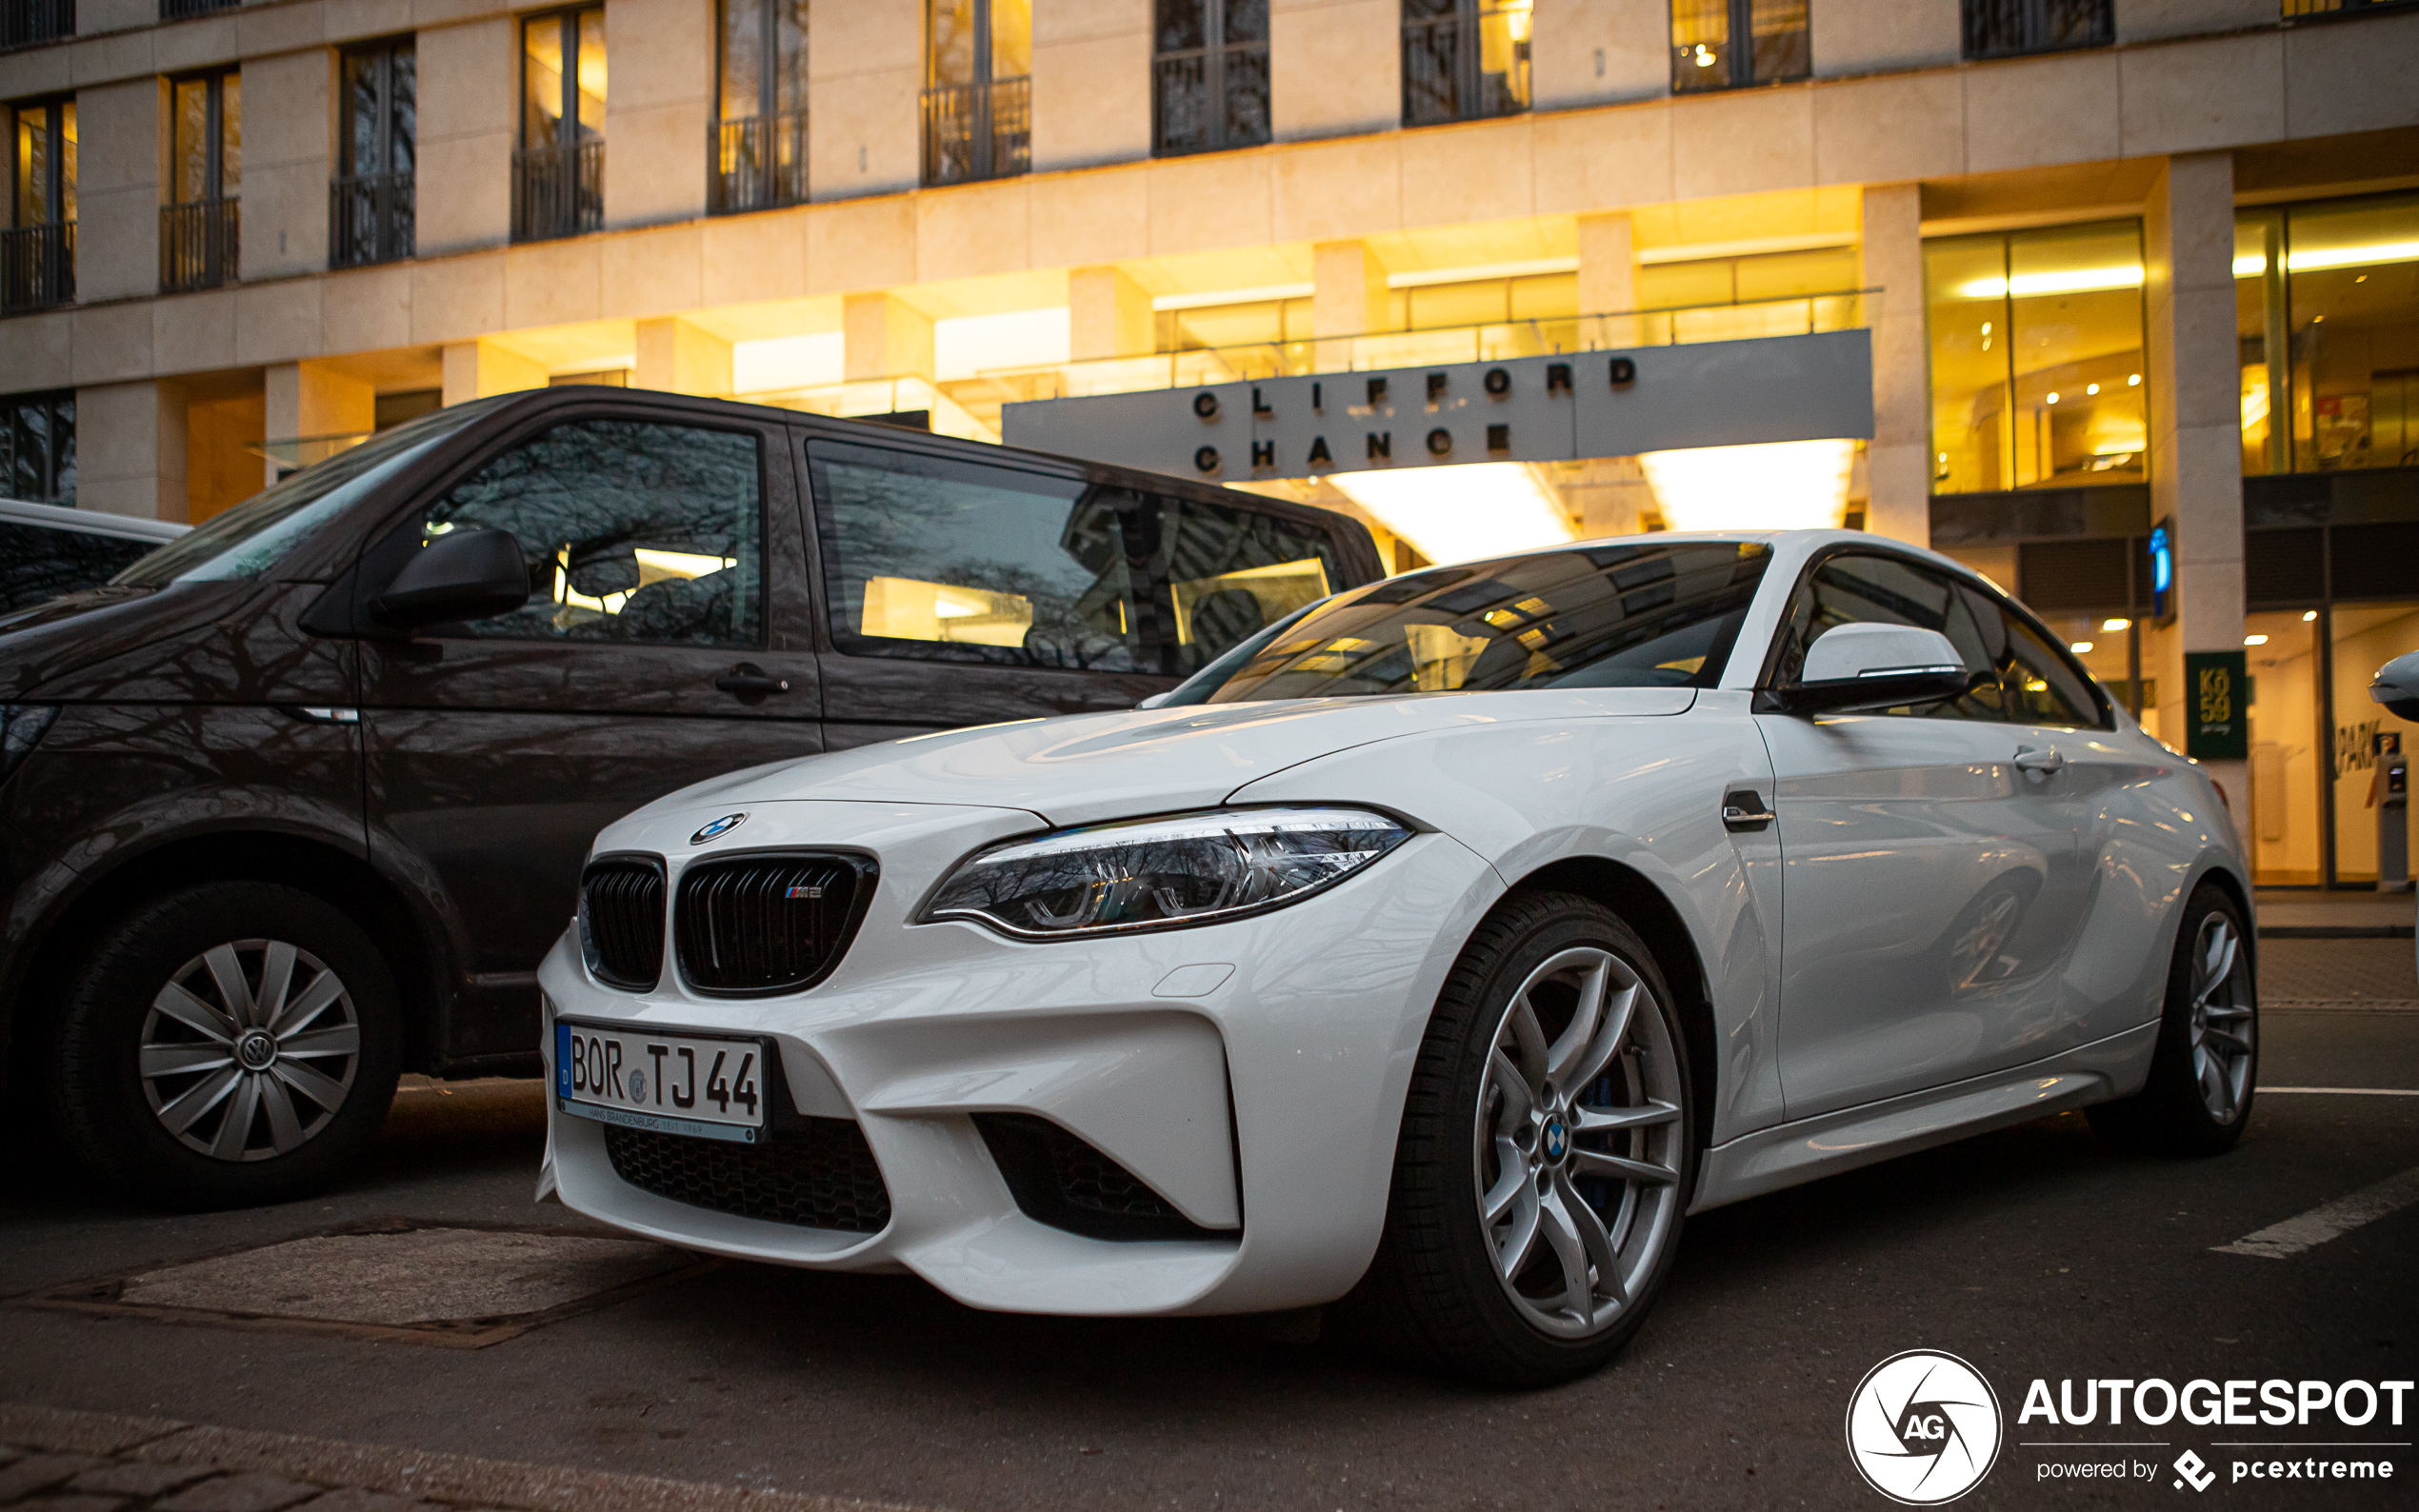
[[[491,1345],[711,1268],[641,1239],[382,1219],[51,1287],[24,1302]]]

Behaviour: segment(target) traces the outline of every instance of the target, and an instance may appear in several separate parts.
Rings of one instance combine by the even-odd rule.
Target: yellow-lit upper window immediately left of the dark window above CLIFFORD
[[[1033,167],[1033,0],[931,0],[924,181]]]

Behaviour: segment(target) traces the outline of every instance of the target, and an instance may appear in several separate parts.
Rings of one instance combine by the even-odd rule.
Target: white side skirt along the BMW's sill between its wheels
[[[1688,1212],[2105,1103],[2141,1086],[2155,1043],[2153,1018],[2032,1064],[1739,1135],[1705,1152]]]

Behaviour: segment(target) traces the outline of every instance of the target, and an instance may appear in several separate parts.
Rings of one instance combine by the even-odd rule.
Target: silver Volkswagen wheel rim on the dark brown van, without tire
[[[278,939],[210,946],[143,1016],[145,1101],[169,1135],[220,1161],[266,1161],[319,1135],[358,1067],[353,997]]]

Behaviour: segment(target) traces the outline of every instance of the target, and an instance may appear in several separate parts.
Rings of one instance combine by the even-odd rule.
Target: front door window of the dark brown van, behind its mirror
[[[764,484],[750,433],[571,421],[452,486],[421,523],[510,530],[530,602],[455,634],[764,644]]]

